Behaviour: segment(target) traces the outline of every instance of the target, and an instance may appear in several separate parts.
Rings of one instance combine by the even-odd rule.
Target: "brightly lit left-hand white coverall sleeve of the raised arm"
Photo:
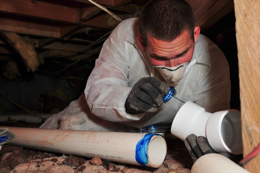
[[[125,111],[132,89],[128,87],[129,47],[134,45],[124,40],[124,27],[122,21],[103,44],[85,88],[91,113],[112,122],[136,121],[144,116],[144,113],[131,115]]]

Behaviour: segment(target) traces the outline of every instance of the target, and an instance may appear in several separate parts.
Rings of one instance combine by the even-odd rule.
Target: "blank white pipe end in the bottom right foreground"
[[[193,164],[191,173],[249,173],[227,157],[211,153],[199,157]]]

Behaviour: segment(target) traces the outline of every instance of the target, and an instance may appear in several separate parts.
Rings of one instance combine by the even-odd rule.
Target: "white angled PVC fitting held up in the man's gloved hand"
[[[243,152],[241,115],[235,109],[209,113],[188,101],[177,112],[171,133],[181,140],[190,134],[205,136],[216,152]]]

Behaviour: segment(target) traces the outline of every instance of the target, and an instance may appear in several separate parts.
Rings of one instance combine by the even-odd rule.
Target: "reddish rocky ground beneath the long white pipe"
[[[189,173],[193,161],[183,141],[166,140],[167,156],[159,168],[143,167],[93,158],[29,150],[2,145],[0,173]]]

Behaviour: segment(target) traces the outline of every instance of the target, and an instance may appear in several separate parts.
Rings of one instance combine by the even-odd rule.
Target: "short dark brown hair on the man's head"
[[[150,0],[139,14],[139,30],[147,43],[148,37],[172,41],[188,30],[194,40],[194,13],[185,0]]]

